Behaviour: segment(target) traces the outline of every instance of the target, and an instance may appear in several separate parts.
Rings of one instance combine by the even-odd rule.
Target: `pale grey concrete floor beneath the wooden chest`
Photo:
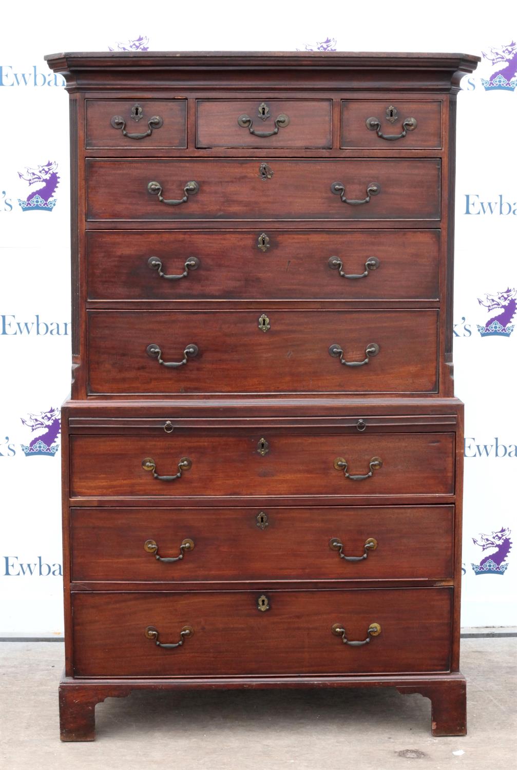
[[[468,735],[432,738],[431,705],[389,688],[133,693],[96,707],[96,742],[61,743],[63,645],[5,642],[9,770],[515,768],[515,638],[462,640]]]

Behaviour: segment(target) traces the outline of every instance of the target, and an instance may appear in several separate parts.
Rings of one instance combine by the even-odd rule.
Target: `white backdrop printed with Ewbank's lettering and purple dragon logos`
[[[60,636],[63,628],[58,410],[70,378],[69,119],[62,78],[43,55],[130,48],[484,52],[458,95],[454,356],[467,437],[462,624],[517,624],[513,6],[499,2],[488,17],[439,2],[421,4],[421,13],[415,3],[396,11],[369,2],[363,15],[342,2],[316,10],[276,2],[273,10],[126,0],[123,9],[76,5],[76,23],[70,6],[29,2],[16,13],[2,10],[0,635]]]

